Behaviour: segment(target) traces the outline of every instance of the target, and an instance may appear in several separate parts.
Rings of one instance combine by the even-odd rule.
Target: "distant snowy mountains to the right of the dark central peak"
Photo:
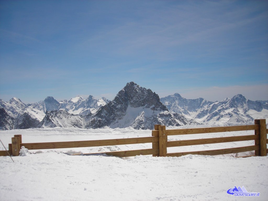
[[[268,101],[250,101],[238,94],[223,101],[209,102],[203,98],[185,99],[179,94],[161,98],[170,111],[208,125],[252,123],[255,118],[268,118]]]

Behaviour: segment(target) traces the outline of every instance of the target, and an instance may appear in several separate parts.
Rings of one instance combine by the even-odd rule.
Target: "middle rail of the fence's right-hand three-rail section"
[[[238,142],[238,141],[245,141],[245,140],[255,140],[255,139],[258,139],[258,137],[259,136],[256,136],[256,135],[244,135],[244,136],[232,136],[232,137],[215,137],[215,138],[207,138],[207,139],[169,141],[167,142],[167,147],[214,144],[214,143],[224,143],[224,142]]]

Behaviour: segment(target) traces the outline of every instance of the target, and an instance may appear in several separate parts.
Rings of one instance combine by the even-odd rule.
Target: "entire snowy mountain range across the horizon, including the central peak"
[[[102,97],[76,96],[57,101],[25,104],[18,98],[0,99],[0,129],[51,127],[153,129],[155,124],[237,125],[252,124],[255,118],[268,118],[268,101],[250,101],[238,94],[223,101],[185,99],[180,94],[164,98],[134,82],[127,83],[113,101]]]

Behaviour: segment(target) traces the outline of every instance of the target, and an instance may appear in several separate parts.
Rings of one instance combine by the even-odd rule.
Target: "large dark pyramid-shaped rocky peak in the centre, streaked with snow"
[[[155,124],[185,125],[169,113],[150,89],[134,82],[127,83],[113,101],[102,106],[96,113],[86,117],[86,128],[153,129]]]

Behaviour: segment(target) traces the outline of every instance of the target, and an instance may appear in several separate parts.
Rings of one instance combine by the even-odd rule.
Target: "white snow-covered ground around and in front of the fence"
[[[167,129],[173,129],[169,127]],[[182,128],[182,127],[181,127]],[[254,131],[170,136],[169,140],[250,135]],[[151,136],[150,130],[44,128],[0,131],[6,147],[21,134],[24,143]],[[253,141],[170,148],[168,152],[252,145]],[[25,156],[0,157],[0,200],[267,200],[268,157],[233,155],[118,158],[68,153],[151,148],[151,143],[53,150],[22,150]],[[0,150],[4,150],[0,145]],[[241,153],[240,155],[250,155]],[[258,197],[226,191],[244,186]]]

